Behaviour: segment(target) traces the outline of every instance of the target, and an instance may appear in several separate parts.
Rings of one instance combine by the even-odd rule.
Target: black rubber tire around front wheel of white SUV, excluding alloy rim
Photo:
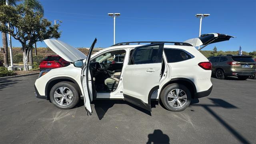
[[[62,86],[69,88],[72,91],[72,93],[73,93],[73,101],[68,106],[61,106],[54,99],[54,92],[55,92],[55,90],[57,90],[58,88],[60,88]],[[71,83],[71,82],[59,82],[59,83],[55,84],[52,87],[52,89],[50,91],[50,100],[51,100],[52,104],[54,104],[54,106],[56,106],[57,108],[65,109],[65,110],[66,109],[71,109],[74,106],[76,106],[76,104],[78,103],[78,100],[79,100],[78,90],[77,90],[77,88],[76,88],[74,83]]]

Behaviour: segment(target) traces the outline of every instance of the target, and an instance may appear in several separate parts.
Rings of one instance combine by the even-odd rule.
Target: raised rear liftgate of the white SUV
[[[184,42],[191,44],[192,46],[206,46],[208,44],[212,44],[215,42],[222,42],[229,40],[230,38],[235,38],[233,36],[228,36],[226,34],[218,34],[218,33],[210,33],[210,34],[202,34],[198,38],[192,38],[186,40]]]

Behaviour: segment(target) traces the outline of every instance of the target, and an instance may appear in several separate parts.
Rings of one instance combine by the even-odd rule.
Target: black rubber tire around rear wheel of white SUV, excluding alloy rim
[[[169,94],[169,92],[171,90],[176,89],[176,88],[179,88],[179,89],[183,90],[187,95],[186,104],[184,104],[184,106],[182,106],[181,108],[173,108],[167,102],[167,95]],[[184,86],[182,84],[176,84],[175,83],[175,84],[169,84],[168,86],[166,86],[163,89],[163,91],[161,92],[160,99],[161,99],[162,104],[164,105],[164,107],[167,110],[170,110],[170,111],[173,111],[173,112],[180,112],[180,111],[185,110],[190,105],[190,102],[191,102],[192,98],[191,98],[190,90],[188,90],[188,88],[186,86]]]

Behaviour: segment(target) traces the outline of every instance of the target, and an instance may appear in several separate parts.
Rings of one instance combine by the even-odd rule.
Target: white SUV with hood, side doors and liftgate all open
[[[124,42],[92,54],[95,39],[88,56],[60,40],[44,40],[71,64],[42,71],[35,82],[36,95],[61,109],[84,99],[88,115],[90,102],[97,99],[122,99],[149,111],[151,100],[161,100],[166,109],[182,111],[192,98],[212,91],[211,63],[194,46],[231,37],[213,33],[185,42]],[[113,62],[116,56],[122,62]]]

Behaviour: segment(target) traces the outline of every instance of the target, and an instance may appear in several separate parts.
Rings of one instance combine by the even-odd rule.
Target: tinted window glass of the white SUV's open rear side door
[[[162,44],[163,46],[163,44]],[[145,46],[135,48],[134,54],[130,57],[129,64],[153,64],[162,62],[162,50],[159,50],[159,45]]]

